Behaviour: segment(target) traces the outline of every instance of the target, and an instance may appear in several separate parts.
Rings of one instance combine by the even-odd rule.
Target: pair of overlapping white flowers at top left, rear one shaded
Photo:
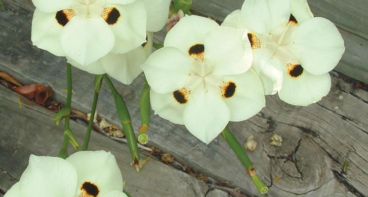
[[[32,0],[32,42],[93,74],[130,84],[152,53],[170,0]]]

